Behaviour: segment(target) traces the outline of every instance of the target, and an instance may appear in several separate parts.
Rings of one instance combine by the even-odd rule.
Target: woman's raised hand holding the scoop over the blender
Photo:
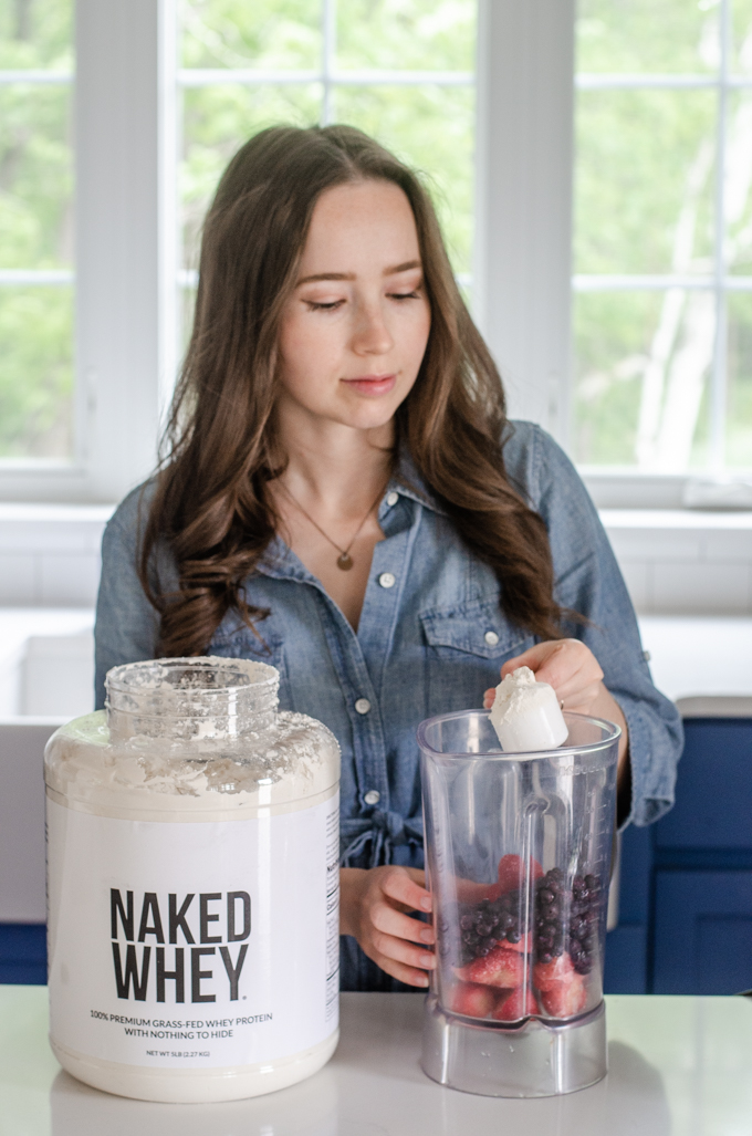
[[[607,718],[621,727],[619,738],[619,787],[628,782],[629,736],[621,707],[603,685],[603,671],[599,661],[579,640],[552,640],[536,643],[529,651],[509,659],[501,668],[505,678],[519,667],[529,667],[538,683],[553,686],[563,710],[573,713],[594,715]],[[483,705],[490,710],[496,691],[486,691]]]

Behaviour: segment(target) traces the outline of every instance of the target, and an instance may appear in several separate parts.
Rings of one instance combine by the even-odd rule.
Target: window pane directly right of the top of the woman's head
[[[341,86],[336,120],[373,134],[428,175],[454,272],[467,273],[473,243],[475,92],[445,86]]]

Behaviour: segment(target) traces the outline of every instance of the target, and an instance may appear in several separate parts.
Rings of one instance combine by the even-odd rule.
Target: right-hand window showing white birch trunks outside
[[[580,0],[570,450],[752,469],[752,5]]]

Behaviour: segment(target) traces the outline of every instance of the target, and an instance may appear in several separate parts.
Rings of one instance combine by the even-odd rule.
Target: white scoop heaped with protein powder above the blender
[[[569,735],[555,691],[536,683],[529,667],[512,670],[499,683],[491,722],[504,753],[553,750]]]

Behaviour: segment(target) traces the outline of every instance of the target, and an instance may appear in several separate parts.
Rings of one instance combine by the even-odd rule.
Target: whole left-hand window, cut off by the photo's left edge
[[[75,452],[73,0],[0,3],[0,462]]]

